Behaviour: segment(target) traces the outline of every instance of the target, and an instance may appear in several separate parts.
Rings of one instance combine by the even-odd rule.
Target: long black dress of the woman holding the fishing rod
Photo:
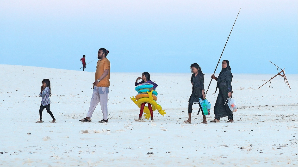
[[[233,112],[229,109],[228,104],[225,104],[226,99],[229,97],[228,93],[232,92],[232,78],[233,75],[230,70],[225,70],[218,76],[218,96],[214,106],[214,118],[220,120],[222,117],[228,116],[233,119]],[[232,97],[232,96],[231,96]]]

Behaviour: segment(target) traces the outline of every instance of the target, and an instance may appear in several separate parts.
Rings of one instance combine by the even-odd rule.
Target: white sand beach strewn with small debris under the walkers
[[[192,124],[184,124],[191,73],[148,71],[159,85],[157,103],[166,114],[156,110],[155,122],[136,122],[139,108],[130,97],[137,94],[134,82],[142,72],[111,72],[109,122],[98,123],[103,119],[98,105],[92,122],[82,123],[93,72],[0,65],[0,166],[298,166],[297,74],[286,74],[291,89],[281,77],[270,88],[267,83],[258,89],[275,74],[232,71],[238,106],[234,123],[226,123],[227,117],[210,122],[218,94],[212,95],[213,80],[206,96],[211,103],[208,123],[200,124],[203,117],[193,105]],[[210,75],[205,74],[205,91]],[[50,107],[57,123],[50,123],[46,110],[44,122],[35,123],[45,78],[51,81]]]

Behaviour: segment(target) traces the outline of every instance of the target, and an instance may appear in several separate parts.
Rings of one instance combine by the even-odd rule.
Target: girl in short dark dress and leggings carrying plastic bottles
[[[191,75],[190,82],[193,85],[193,92],[190,95],[188,102],[188,120],[183,121],[184,123],[191,123],[191,112],[193,110],[193,104],[199,104],[201,110],[202,106],[199,102],[199,98],[202,100],[205,99],[205,90],[204,90],[204,74],[202,72],[201,67],[197,63],[193,63],[190,66],[190,71],[193,73]],[[206,116],[202,112],[203,122],[207,123]]]

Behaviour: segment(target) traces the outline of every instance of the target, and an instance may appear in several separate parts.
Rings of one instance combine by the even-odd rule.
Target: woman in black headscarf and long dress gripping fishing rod
[[[228,104],[225,104],[226,99],[232,97],[232,78],[233,75],[231,73],[230,63],[227,60],[224,60],[221,64],[221,72],[219,73],[218,77],[215,77],[213,74],[211,75],[212,79],[217,81],[216,90],[218,88],[218,96],[216,99],[216,103],[214,106],[214,120],[211,122],[219,122],[220,118],[228,116],[230,122],[233,121],[233,112],[229,109]],[[215,90],[215,92],[216,92]],[[215,93],[214,92],[214,93]],[[213,94],[214,94],[213,93]]]

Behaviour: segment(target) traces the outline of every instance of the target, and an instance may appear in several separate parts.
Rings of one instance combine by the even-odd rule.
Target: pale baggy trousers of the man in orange
[[[94,86],[87,117],[92,117],[97,104],[100,102],[101,111],[103,112],[103,119],[108,119],[108,95],[109,87]]]

